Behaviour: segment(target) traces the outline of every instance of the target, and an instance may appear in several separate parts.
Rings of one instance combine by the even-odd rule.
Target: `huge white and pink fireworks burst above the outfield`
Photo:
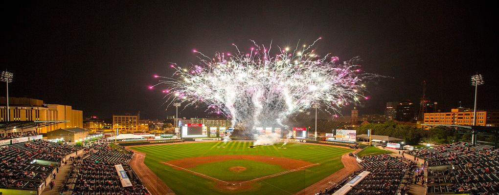
[[[340,106],[367,99],[363,83],[376,75],[360,73],[357,57],[340,62],[330,54],[316,54],[315,42],[277,52],[271,44],[267,48],[253,42],[247,52],[234,45],[234,54],[217,53],[214,58],[194,50],[199,63],[189,69],[171,64],[173,77],[155,75],[160,81],[150,88],[164,84],[168,104],[206,104],[231,118],[233,125],[249,129],[286,126],[288,116],[312,104],[336,115]]]

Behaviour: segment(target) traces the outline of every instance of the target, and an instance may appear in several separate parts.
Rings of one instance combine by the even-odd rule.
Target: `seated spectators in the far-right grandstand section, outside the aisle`
[[[411,153],[429,161],[427,194],[499,195],[497,149],[460,142]]]

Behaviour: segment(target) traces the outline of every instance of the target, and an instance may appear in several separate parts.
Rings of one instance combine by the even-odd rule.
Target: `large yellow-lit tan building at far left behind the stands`
[[[46,104],[43,100],[33,98],[9,97],[9,121],[62,121],[26,131],[46,133],[60,128],[83,127],[83,111],[74,110],[70,105]],[[0,97],[0,120],[7,121],[6,98]]]

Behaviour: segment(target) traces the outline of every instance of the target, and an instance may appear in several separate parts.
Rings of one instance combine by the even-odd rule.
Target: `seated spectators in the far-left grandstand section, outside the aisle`
[[[36,140],[0,148],[0,188],[38,189],[56,169],[56,162],[80,147]],[[50,165],[35,160],[54,162]]]

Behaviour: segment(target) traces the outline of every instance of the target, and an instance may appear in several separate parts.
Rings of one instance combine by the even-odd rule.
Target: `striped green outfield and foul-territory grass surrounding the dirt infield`
[[[261,194],[294,194],[321,179],[343,168],[341,155],[352,152],[352,149],[330,146],[288,143],[286,149],[279,149],[281,144],[273,146],[257,146],[249,148],[252,142],[231,141],[224,142],[196,142],[186,144],[170,144],[155,146],[137,146],[131,149],[146,154],[144,163],[149,167],[169,188],[177,195],[219,195],[235,194],[220,192],[214,188],[215,182],[173,169],[161,162],[197,156],[217,155],[260,155],[278,156],[298,159],[317,166],[305,170],[291,172],[276,177],[264,179],[253,183],[252,191],[238,192],[241,195]],[[218,148],[217,146],[225,146]],[[213,169],[218,169],[213,167]],[[161,182],[161,181],[158,181]]]

